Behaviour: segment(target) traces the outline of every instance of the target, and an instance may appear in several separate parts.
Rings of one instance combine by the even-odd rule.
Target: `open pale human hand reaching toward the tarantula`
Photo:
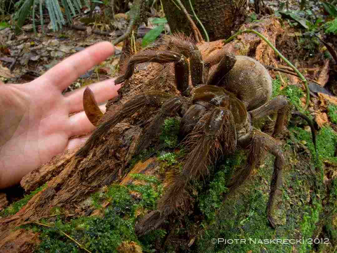
[[[101,42],[27,84],[0,81],[0,189],[18,184],[55,155],[85,142],[88,136],[69,139],[95,128],[83,111],[84,88],[66,95],[62,90],[114,53],[111,43]],[[115,97],[119,87],[113,79],[90,85],[98,103]]]

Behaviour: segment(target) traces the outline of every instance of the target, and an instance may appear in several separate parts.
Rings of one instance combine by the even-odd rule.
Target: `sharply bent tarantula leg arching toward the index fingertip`
[[[200,52],[199,52],[200,53]],[[197,53],[196,53],[197,54]],[[192,54],[193,56],[194,54]],[[200,55],[201,57],[201,55]],[[175,63],[175,79],[176,86],[180,93],[184,96],[189,96],[190,88],[188,84],[189,78],[189,64],[186,57],[183,54],[176,53],[173,51],[156,51],[156,50],[145,50],[133,55],[127,64],[127,69],[124,75],[118,77],[115,80],[115,84],[124,82],[129,79],[134,71],[134,67],[138,63],[143,62],[156,62],[156,63]],[[197,74],[196,74],[197,75]],[[193,86],[196,86],[199,78],[192,78]]]

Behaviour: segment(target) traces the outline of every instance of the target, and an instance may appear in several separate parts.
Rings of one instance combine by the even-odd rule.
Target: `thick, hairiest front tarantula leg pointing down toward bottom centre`
[[[186,137],[186,156],[182,158],[182,171],[175,168],[168,172],[164,184],[168,186],[163,197],[158,202],[158,210],[146,215],[136,225],[136,233],[141,235],[148,230],[158,228],[165,218],[176,209],[186,210],[190,198],[187,185],[191,180],[205,177],[209,174],[208,166],[224,151],[222,141],[236,139],[235,128],[232,133],[227,128],[234,126],[232,113],[221,107],[208,110],[197,122],[193,131]],[[228,143],[228,141],[225,141]]]

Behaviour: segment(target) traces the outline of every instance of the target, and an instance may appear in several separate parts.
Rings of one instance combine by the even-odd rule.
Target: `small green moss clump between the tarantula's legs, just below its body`
[[[159,136],[159,140],[164,143],[165,148],[176,148],[178,146],[179,129],[180,120],[176,118],[165,119]]]

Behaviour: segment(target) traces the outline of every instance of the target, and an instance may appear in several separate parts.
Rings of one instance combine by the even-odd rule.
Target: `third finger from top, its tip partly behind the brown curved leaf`
[[[105,105],[101,105],[100,110],[105,112]],[[69,117],[70,133],[69,136],[84,135],[93,131],[96,127],[90,123],[85,112],[79,112]]]

